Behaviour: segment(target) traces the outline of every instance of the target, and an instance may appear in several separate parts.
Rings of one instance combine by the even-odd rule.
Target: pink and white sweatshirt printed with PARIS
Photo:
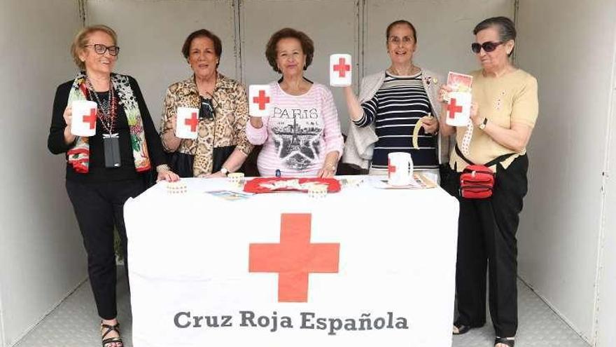
[[[338,151],[344,140],[332,92],[314,83],[304,95],[289,95],[276,82],[269,83],[272,105],[263,126],[246,123],[246,137],[263,147],[257,159],[261,176],[316,176],[325,156]]]

